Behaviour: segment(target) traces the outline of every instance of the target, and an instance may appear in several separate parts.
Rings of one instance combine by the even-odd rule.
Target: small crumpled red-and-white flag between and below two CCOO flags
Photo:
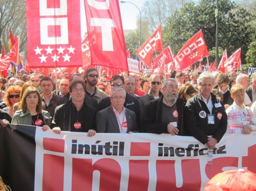
[[[163,71],[167,72],[167,64],[170,62],[174,62],[173,58],[173,53],[170,47],[168,46],[166,49],[163,50],[161,54],[159,54],[155,59],[154,59],[154,65],[152,67],[152,70],[154,72],[161,73]],[[166,69],[164,69],[166,68]]]

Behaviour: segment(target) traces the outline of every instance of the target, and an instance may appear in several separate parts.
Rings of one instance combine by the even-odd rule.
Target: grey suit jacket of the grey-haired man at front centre
[[[136,115],[135,112],[128,110],[125,108],[125,116],[127,120],[127,132],[138,131],[138,126],[136,123]],[[120,133],[118,120],[115,117],[114,112],[111,107],[107,107],[96,114],[96,131],[97,132],[115,132]]]

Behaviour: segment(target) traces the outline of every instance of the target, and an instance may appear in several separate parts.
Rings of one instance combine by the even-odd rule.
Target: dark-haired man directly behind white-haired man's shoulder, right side
[[[223,105],[227,109],[234,102],[230,94],[229,77],[227,74],[221,73],[216,78],[216,82],[218,84],[218,90],[223,94]]]

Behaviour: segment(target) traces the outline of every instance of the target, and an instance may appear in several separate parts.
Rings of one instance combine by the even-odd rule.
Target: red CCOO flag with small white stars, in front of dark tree
[[[179,63],[179,70],[182,71],[206,56],[209,56],[209,52],[204,41],[203,31],[200,30],[180,49],[175,60]]]

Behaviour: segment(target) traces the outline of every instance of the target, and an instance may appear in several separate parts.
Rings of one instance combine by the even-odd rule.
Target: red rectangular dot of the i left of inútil
[[[45,150],[64,152],[65,140],[57,138],[44,138],[42,145]]]

